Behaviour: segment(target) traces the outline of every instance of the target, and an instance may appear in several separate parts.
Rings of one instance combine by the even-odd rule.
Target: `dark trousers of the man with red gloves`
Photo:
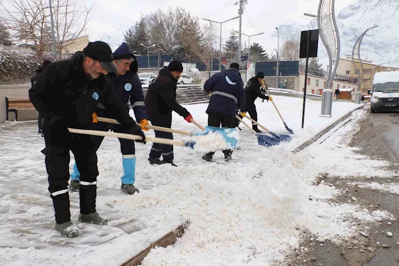
[[[159,116],[151,119],[151,124],[154,126],[171,128],[172,113],[166,116]],[[155,137],[157,138],[173,139],[172,133],[158,131],[158,130],[154,130],[154,132],[155,132]],[[155,158],[161,158],[161,155],[164,158],[165,162],[173,161],[173,159],[175,158],[173,153],[173,145],[153,143],[149,157],[151,159],[155,159]]]

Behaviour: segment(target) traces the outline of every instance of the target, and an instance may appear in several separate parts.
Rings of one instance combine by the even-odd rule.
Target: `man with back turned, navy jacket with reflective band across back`
[[[234,128],[235,115],[245,109],[244,82],[239,74],[239,65],[231,63],[230,68],[214,74],[203,85],[210,100],[206,113],[208,126]],[[244,114],[245,115],[245,114]],[[230,160],[232,150],[224,150],[224,159]],[[214,152],[202,156],[205,161],[211,161]]]

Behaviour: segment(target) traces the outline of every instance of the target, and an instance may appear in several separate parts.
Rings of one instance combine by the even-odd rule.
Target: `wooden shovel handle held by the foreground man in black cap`
[[[98,120],[98,121],[100,121],[100,120]],[[116,133],[116,132],[76,129],[76,128],[68,128],[68,130],[71,133],[86,134],[86,135],[91,135],[91,136],[114,137],[114,138],[121,138],[121,139],[130,139],[130,140],[142,139],[141,136],[126,134],[126,133]],[[175,145],[175,146],[185,146],[184,141],[164,139],[164,138],[146,137],[146,142],[154,142],[154,143],[159,143],[159,144]]]

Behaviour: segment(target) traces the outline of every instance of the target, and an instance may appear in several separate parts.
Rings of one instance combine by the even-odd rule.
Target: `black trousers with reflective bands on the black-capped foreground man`
[[[69,151],[75,156],[80,172],[80,213],[96,212],[97,196],[97,155],[89,135],[68,134],[64,129],[54,129],[48,126],[44,119],[43,133],[46,148],[45,164],[48,174],[48,191],[53,200],[55,221],[62,224],[71,220],[69,211]]]

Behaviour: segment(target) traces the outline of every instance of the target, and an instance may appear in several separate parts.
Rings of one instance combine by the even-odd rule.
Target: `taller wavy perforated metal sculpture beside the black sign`
[[[327,89],[335,76],[340,59],[340,36],[335,21],[335,0],[320,0],[317,25],[320,29],[320,38],[326,47],[330,64],[327,72]],[[334,70],[332,67],[334,65]]]

